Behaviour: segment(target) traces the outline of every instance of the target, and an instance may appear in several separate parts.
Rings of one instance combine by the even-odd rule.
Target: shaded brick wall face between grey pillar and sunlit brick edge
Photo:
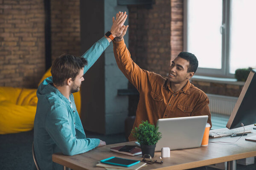
[[[128,6],[129,51],[141,68],[166,76],[171,59],[171,1],[155,0],[152,8]]]

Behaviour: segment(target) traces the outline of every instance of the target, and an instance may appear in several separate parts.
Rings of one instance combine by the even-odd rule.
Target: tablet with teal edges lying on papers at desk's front
[[[117,165],[117,166],[122,166],[122,167],[131,167],[135,164],[140,163],[140,161],[138,161],[138,160],[123,159],[123,158],[118,158],[115,156],[112,156],[107,159],[103,159],[100,162],[104,163],[104,164],[112,164],[112,165]]]

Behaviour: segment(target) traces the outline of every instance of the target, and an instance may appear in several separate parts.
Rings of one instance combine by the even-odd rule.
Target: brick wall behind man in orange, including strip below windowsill
[[[183,51],[183,0],[155,2],[150,9],[129,6],[129,51],[141,68],[164,77],[170,61]],[[195,80],[192,83],[205,93],[227,96],[239,96],[243,87]],[[129,99],[129,108],[135,108],[132,112],[136,110],[132,106],[134,98]]]

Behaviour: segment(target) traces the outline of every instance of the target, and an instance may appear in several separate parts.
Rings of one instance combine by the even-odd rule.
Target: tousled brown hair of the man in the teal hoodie
[[[83,57],[62,54],[60,57],[57,57],[52,64],[52,82],[57,86],[62,86],[66,79],[71,78],[74,81],[79,71],[84,68],[85,65],[87,65],[87,60]]]

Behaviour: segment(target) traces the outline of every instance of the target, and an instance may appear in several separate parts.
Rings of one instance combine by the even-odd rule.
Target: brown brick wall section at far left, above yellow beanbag
[[[0,86],[34,88],[44,73],[44,1],[0,0]]]

